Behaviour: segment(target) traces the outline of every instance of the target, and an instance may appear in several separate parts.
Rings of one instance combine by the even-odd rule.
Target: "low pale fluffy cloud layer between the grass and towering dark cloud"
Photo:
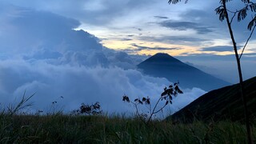
[[[27,95],[36,93],[31,100],[34,102],[31,110],[45,112],[54,101],[66,112],[77,109],[82,102],[100,102],[102,110],[109,113],[133,112],[133,108],[122,102],[123,94],[131,99],[150,96],[154,103],[163,87],[170,84],[166,78],[153,78],[119,67],[54,66],[22,60],[1,61],[0,66],[1,102],[14,102],[26,90]],[[179,110],[205,93],[200,89],[184,90],[184,94],[174,98],[170,110]]]

